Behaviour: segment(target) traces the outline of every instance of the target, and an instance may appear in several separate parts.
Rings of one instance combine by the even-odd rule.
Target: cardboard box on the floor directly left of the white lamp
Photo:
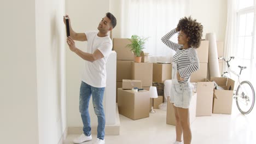
[[[118,88],[118,111],[121,115],[133,120],[149,117],[149,92]]]

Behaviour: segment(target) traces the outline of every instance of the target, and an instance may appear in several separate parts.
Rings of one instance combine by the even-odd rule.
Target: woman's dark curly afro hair
[[[182,31],[189,37],[188,45],[194,48],[198,48],[201,44],[201,37],[203,32],[203,26],[197,22],[196,19],[192,19],[191,16],[183,17],[179,20],[177,30]]]

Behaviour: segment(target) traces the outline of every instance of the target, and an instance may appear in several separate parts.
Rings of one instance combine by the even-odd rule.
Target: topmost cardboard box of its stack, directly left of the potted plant
[[[113,50],[117,52],[117,60],[133,61],[133,53],[126,47],[127,44],[131,44],[129,39],[114,38],[113,39]]]

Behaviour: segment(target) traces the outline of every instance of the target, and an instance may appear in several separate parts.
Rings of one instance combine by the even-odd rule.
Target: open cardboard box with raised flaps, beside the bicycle
[[[211,77],[211,81],[225,89],[214,89],[212,113],[231,114],[235,81],[227,77]]]

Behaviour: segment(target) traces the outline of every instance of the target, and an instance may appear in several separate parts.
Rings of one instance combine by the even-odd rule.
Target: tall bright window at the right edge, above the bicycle
[[[247,66],[243,79],[255,80],[255,27],[256,0],[237,0],[236,65]],[[234,63],[233,63],[234,64]]]

